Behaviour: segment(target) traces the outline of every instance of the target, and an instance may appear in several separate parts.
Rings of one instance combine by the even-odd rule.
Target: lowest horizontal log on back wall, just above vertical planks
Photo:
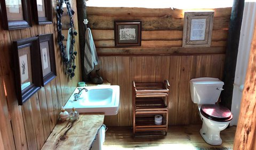
[[[204,55],[225,54],[226,47],[182,48],[182,47],[131,47],[131,48],[97,48],[99,56],[113,55]]]

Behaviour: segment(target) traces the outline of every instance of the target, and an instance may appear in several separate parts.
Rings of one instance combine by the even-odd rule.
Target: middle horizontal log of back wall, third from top
[[[114,40],[114,30],[92,30],[94,40]],[[212,40],[227,40],[228,30],[213,30]],[[182,40],[182,31],[156,30],[142,31],[142,40]]]

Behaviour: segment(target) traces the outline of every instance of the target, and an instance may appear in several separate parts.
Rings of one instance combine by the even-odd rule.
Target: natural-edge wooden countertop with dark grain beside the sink
[[[77,121],[59,121],[42,149],[90,149],[104,114],[80,114]]]

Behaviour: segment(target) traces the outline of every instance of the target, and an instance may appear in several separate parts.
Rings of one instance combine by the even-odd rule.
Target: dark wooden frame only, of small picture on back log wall
[[[118,26],[124,25],[137,25],[138,26],[138,41],[137,43],[119,43],[118,41]],[[115,30],[115,46],[116,47],[127,47],[127,46],[141,46],[141,21],[114,21],[114,30]]]

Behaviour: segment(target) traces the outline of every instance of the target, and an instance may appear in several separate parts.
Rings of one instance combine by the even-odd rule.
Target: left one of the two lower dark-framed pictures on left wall
[[[17,99],[22,105],[41,88],[38,37],[13,41],[13,55]]]

